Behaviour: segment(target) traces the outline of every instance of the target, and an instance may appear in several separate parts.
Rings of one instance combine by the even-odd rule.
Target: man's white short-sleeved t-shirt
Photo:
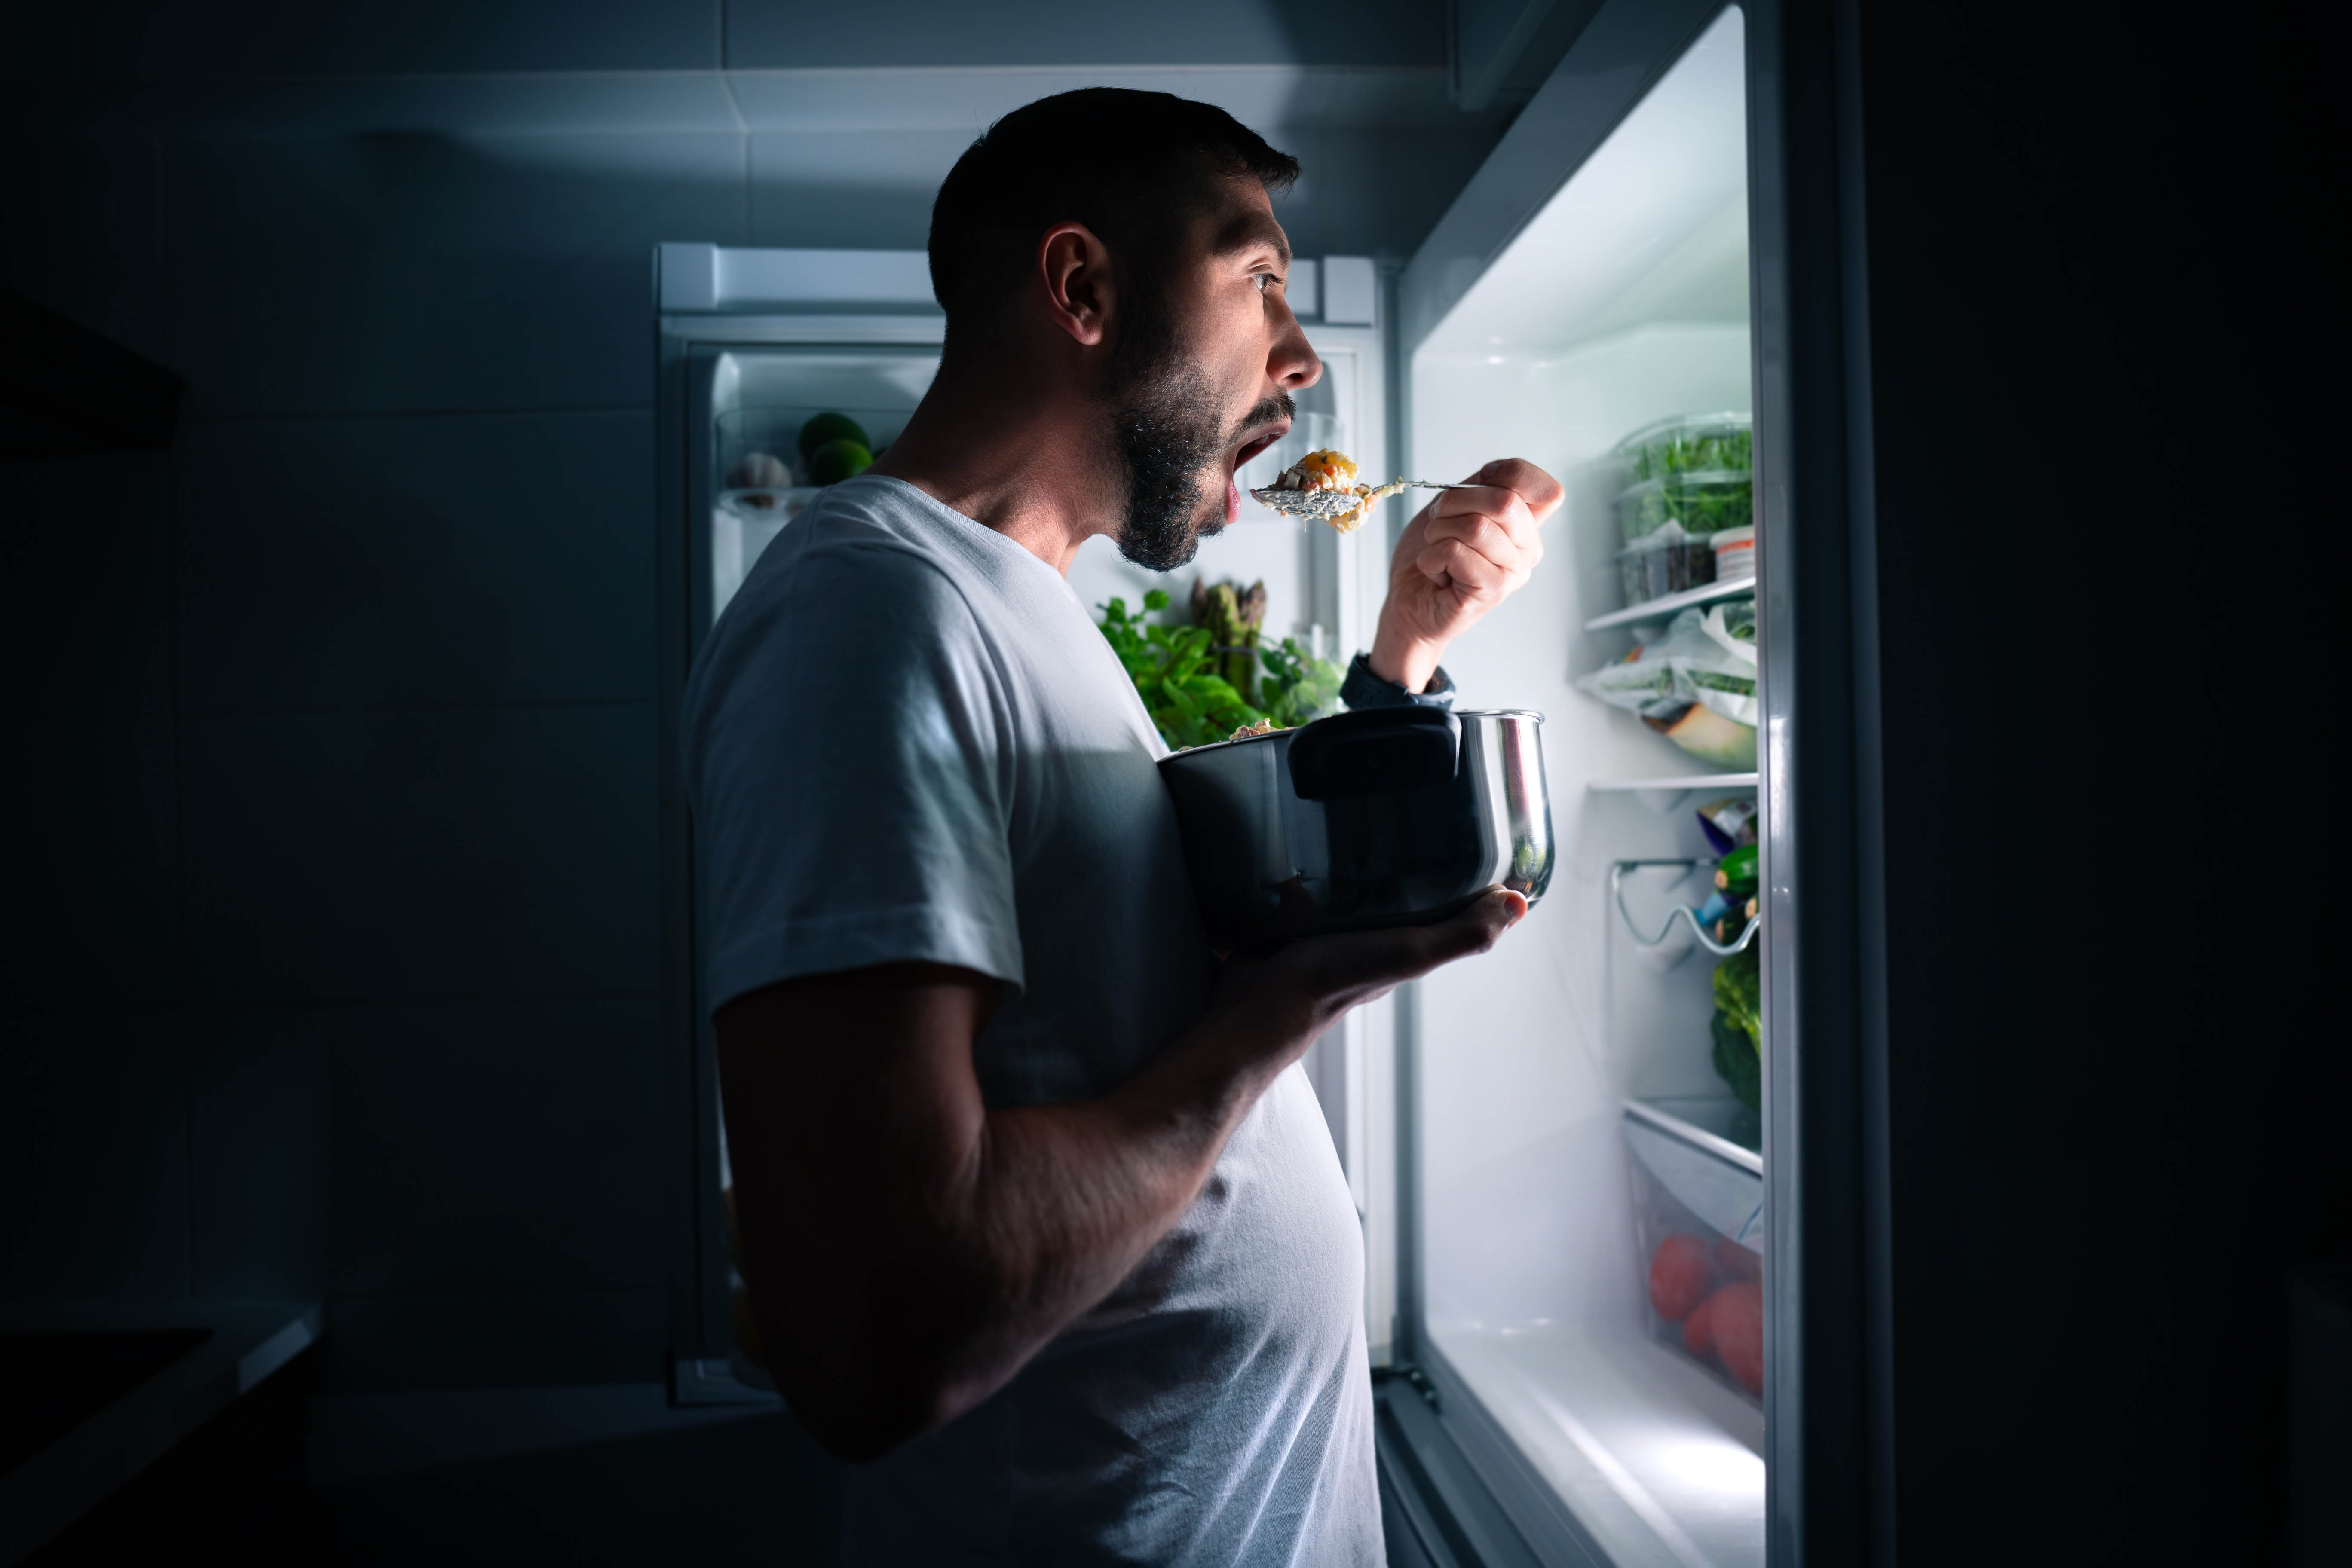
[[[1211,957],[1167,755],[1058,571],[898,480],[767,548],[687,686],[706,997],[894,959],[1004,980],[990,1107],[1110,1091]],[[976,1410],[854,1472],[863,1563],[1381,1563],[1364,1251],[1284,1072],[1183,1220]]]

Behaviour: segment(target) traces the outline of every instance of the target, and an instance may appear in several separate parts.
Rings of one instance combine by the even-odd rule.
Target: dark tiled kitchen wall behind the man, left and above
[[[9,9],[5,280],[188,397],[0,473],[0,1293],[325,1295],[339,1387],[663,1375],[647,256],[920,244],[969,132],[717,73],[1018,63],[981,9]],[[1301,249],[1409,252],[1489,139],[1303,129]]]

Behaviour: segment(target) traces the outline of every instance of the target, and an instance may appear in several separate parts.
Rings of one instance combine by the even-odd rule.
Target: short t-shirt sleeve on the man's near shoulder
[[[898,543],[795,555],[689,691],[706,1004],[910,959],[1021,987],[1004,684],[969,604]]]

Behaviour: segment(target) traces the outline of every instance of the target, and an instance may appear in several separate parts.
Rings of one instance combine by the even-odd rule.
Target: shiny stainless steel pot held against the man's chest
[[[1367,708],[1160,762],[1216,943],[1411,926],[1552,882],[1543,715]]]

